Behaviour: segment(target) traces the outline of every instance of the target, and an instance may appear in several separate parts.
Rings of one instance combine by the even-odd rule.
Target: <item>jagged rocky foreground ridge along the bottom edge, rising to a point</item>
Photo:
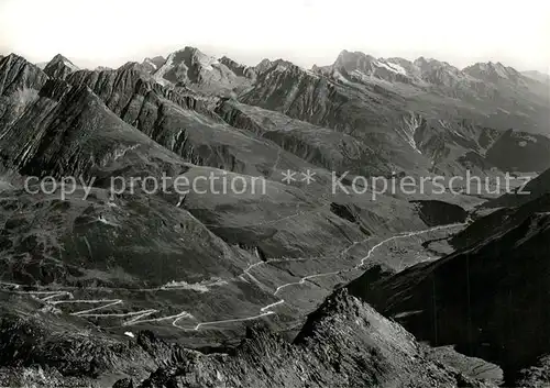
[[[169,344],[151,332],[123,342],[84,335],[68,323],[62,329],[58,319],[9,314],[1,323],[1,385],[491,387],[430,361],[413,335],[344,289],[309,317],[294,343],[255,326],[237,348],[216,354]]]

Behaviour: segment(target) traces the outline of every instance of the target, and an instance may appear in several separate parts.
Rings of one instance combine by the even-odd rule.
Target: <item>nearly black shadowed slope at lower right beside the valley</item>
[[[374,284],[360,278],[353,292],[419,340],[499,364],[513,385],[549,353],[549,206],[544,196],[491,214],[462,232],[455,253]]]

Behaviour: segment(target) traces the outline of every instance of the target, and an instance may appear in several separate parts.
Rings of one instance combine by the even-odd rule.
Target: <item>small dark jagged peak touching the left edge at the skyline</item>
[[[40,90],[47,78],[36,65],[16,54],[0,59],[0,95],[21,89]]]

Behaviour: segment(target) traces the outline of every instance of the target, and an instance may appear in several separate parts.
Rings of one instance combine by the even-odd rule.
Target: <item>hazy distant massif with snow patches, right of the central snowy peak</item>
[[[344,51],[334,65],[314,71],[275,63],[239,100],[380,144],[385,151],[407,149],[383,155],[381,164],[435,165],[438,173],[491,169],[495,165],[485,158],[487,148],[498,130],[516,122],[516,129],[548,135],[549,96],[542,84],[520,75],[516,81],[503,76],[488,84],[482,73],[461,71],[437,60],[392,60]],[[508,106],[521,111],[510,113],[503,108]],[[547,136],[541,138],[548,144]],[[519,165],[519,159],[514,156],[510,163]],[[531,167],[540,170],[527,163]]]

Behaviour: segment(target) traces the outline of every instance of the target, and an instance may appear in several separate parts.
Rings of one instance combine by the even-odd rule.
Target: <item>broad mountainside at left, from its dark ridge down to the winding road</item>
[[[417,208],[405,199],[381,196],[373,203],[359,195],[330,196],[330,173],[321,166],[230,126],[208,110],[207,100],[147,84],[133,68],[80,70],[61,80],[21,57],[12,56],[2,65],[8,75],[15,75],[3,98],[16,107],[4,115],[9,120],[2,126],[6,167],[36,177],[82,179],[61,202],[59,190],[37,196],[24,192],[20,184],[3,192],[2,254],[10,268],[3,280],[32,285],[31,295],[62,292],[64,298],[70,292],[81,301],[76,310],[66,310],[70,303],[64,299],[55,304],[78,315],[86,311],[87,300],[96,300],[92,310],[98,312],[89,318],[101,326],[111,328],[117,318],[120,332],[128,322],[141,321],[133,315],[144,314],[145,326],[160,322],[168,336],[212,345],[227,339],[217,329],[218,321],[223,326],[223,321],[235,320],[229,331],[242,331],[241,320],[273,314],[265,307],[285,302],[273,324],[288,328],[330,293],[330,284],[353,276],[343,269],[366,255],[370,235],[426,229]],[[32,98],[16,98],[21,90],[31,90],[25,92]],[[284,185],[280,173],[288,168],[312,169],[316,182]],[[199,176],[220,180],[215,189],[205,182],[185,198],[174,191],[151,193],[139,185],[113,196],[110,188],[112,178],[128,184],[132,177],[163,174],[189,181]],[[223,177],[257,185],[257,190],[219,196]],[[253,180],[258,177],[266,179],[264,185]],[[92,190],[82,201],[90,181]],[[30,221],[35,209],[44,209],[40,226]],[[396,214],[389,215],[389,209]],[[29,259],[20,262],[21,257]],[[139,257],[155,259],[138,265]],[[286,259],[292,269],[264,264]],[[317,262],[317,268],[310,268],[309,259]],[[258,267],[254,274],[252,266]],[[308,301],[285,301],[296,290],[279,287],[295,282],[300,274],[340,269],[342,274],[315,290]],[[87,289],[73,290],[81,286]],[[105,287],[120,289],[117,303]],[[176,295],[182,289],[187,291],[183,298]],[[148,295],[145,301],[143,295]],[[172,325],[178,324],[180,328]],[[180,330],[204,322],[215,324],[180,336]]]

